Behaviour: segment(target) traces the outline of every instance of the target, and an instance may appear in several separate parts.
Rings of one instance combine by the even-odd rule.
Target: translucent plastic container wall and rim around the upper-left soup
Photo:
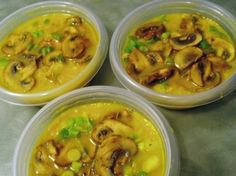
[[[19,9],[1,21],[0,40],[8,35],[16,26],[28,19],[44,14],[59,12],[79,15],[93,25],[99,37],[98,48],[93,59],[80,74],[74,77],[74,79],[49,91],[24,94],[14,93],[4,88],[0,88],[0,98],[4,101],[19,105],[43,105],[65,92],[85,86],[102,66],[108,49],[108,36],[106,29],[95,14],[80,4],[63,1],[45,1]]]

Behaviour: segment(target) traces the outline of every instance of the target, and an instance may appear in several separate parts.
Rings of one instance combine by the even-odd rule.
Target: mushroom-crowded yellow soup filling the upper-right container
[[[235,46],[218,23],[199,14],[157,16],[135,28],[122,64],[138,83],[157,92],[209,90],[235,71]]]

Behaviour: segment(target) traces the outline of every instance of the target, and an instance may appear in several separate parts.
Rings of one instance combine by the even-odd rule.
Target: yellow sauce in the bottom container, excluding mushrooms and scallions
[[[138,172],[145,171],[148,176],[165,175],[166,150],[160,131],[143,114],[116,102],[95,102],[76,105],[56,115],[37,140],[31,157],[29,175],[37,175],[35,174],[35,168],[37,168],[38,162],[35,157],[38,146],[52,139],[61,144],[67,143],[69,139],[61,139],[58,135],[61,129],[67,127],[68,120],[88,117],[92,120],[94,130],[104,120],[106,115],[122,111],[129,112],[131,115],[130,117],[121,117],[119,120],[132,128],[132,132],[126,134],[126,136],[132,139],[138,147],[137,154],[123,167],[123,174],[125,176],[133,176]],[[91,132],[81,134],[76,140],[87,147],[94,145],[94,142],[91,142]],[[82,147],[86,148],[85,146]],[[62,175],[66,170],[70,170],[70,167],[55,167],[51,168],[51,170],[54,170],[54,174]]]

